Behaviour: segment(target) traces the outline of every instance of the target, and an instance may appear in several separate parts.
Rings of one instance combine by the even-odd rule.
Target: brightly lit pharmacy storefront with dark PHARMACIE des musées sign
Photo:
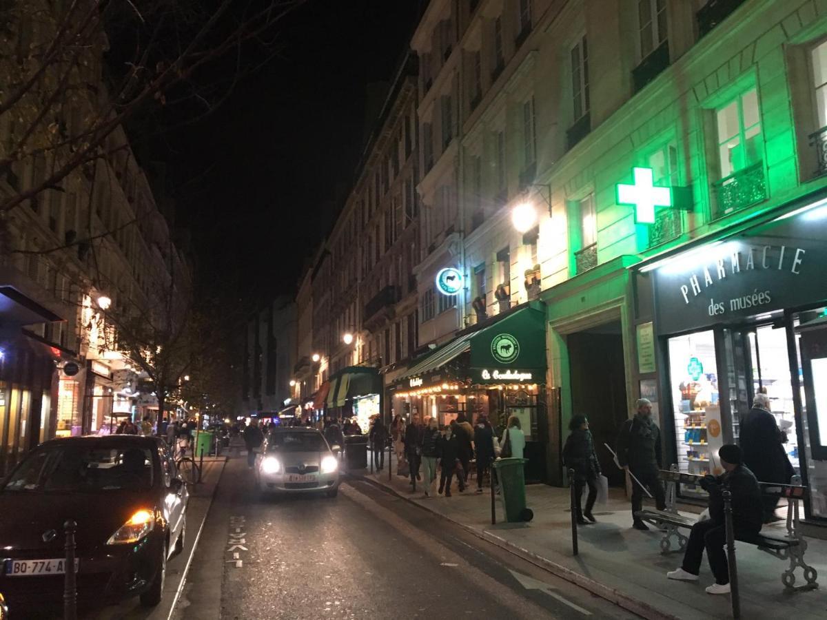
[[[660,413],[668,462],[718,472],[719,447],[739,441],[767,393],[810,487],[808,517],[827,518],[827,200],[634,271],[640,393]]]

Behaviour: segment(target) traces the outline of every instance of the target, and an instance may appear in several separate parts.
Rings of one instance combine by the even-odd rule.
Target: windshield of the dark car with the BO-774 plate
[[[153,474],[149,450],[54,446],[29,455],[7,479],[2,492],[140,491],[152,486]]]

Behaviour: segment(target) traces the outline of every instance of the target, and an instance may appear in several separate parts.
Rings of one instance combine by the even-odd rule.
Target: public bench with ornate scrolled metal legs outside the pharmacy
[[[681,473],[677,470],[677,465],[672,465],[672,470],[660,470],[658,478],[666,485],[666,510],[644,509],[635,513],[635,516],[662,529],[663,537],[660,542],[662,553],[672,551],[672,538],[677,541],[678,548],[676,551],[684,551],[689,538],[681,533],[681,529],[691,529],[697,519],[695,517],[685,517],[677,512],[678,484],[696,484],[700,486],[700,480],[703,479],[703,476]],[[793,481],[799,482],[800,478],[796,476]],[[741,542],[755,545],[760,551],[775,556],[779,560],[789,560],[790,565],[782,573],[781,578],[782,584],[787,589],[817,588],[818,573],[815,568],[807,565],[804,561],[807,541],[801,532],[801,522],[799,521],[799,504],[804,499],[806,487],[802,487],[801,484],[772,484],[766,482],[758,484],[761,486],[761,493],[764,497],[786,498],[786,534],[762,531],[758,534],[757,539]],[[799,567],[803,570],[806,584],[796,588],[795,570]]]

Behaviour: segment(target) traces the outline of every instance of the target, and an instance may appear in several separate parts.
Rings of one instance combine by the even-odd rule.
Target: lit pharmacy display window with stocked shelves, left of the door
[[[715,333],[672,337],[668,355],[678,468],[688,474],[709,474],[717,467],[715,454],[723,441]],[[681,493],[689,496],[706,494],[694,485],[681,487]]]

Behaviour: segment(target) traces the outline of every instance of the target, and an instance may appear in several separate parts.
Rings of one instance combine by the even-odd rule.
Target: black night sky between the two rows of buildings
[[[144,159],[165,163],[202,284],[251,303],[294,293],[347,196],[367,86],[392,76],[421,3],[308,0],[282,23],[279,54],[217,112],[148,145]],[[247,51],[248,68],[260,62]]]

